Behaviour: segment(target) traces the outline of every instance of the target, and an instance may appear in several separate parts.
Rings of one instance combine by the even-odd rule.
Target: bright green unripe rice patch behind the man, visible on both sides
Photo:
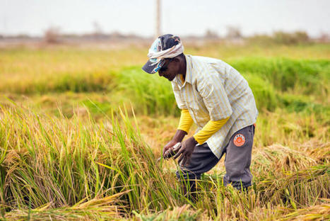
[[[250,57],[232,60],[230,64],[247,79],[261,110],[305,111],[317,106],[319,111],[329,112],[330,103],[326,101],[330,90],[329,61]],[[122,94],[136,101],[137,109],[144,114],[177,113],[169,81],[144,74],[141,67],[124,69],[119,79]]]

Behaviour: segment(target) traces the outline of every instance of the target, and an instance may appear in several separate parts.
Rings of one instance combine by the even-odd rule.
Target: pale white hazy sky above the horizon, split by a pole
[[[274,30],[330,33],[330,0],[162,0],[162,33],[225,35],[237,26],[244,35]],[[155,0],[0,0],[0,34],[87,33],[93,23],[110,33],[151,36]]]

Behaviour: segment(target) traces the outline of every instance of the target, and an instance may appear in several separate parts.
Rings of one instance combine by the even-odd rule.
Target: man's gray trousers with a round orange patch
[[[225,171],[223,183],[227,186],[229,183],[237,189],[252,186],[252,174],[249,169],[251,164],[252,145],[254,137],[254,125],[242,128],[230,137],[228,145],[223,148],[221,157],[225,154]],[[207,143],[196,145],[188,166],[180,166],[177,171],[177,178],[187,181],[194,186],[194,182],[201,178],[201,174],[211,170],[213,166],[220,161],[213,154]]]

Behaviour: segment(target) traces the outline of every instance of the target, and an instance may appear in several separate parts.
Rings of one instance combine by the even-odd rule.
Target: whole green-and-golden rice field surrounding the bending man
[[[0,220],[330,220],[330,45],[187,45],[235,67],[259,109],[252,188],[224,187],[221,159],[194,202],[157,162],[179,110],[147,51],[0,50]]]

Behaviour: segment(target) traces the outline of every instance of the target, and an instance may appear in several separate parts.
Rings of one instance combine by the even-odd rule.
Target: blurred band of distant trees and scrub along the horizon
[[[330,42],[330,35],[326,33],[321,33],[317,38],[311,38],[310,35],[304,30],[297,30],[294,32],[285,31],[275,31],[270,35],[266,34],[255,34],[244,36],[242,35],[239,28],[228,28],[225,35],[218,35],[216,31],[206,30],[206,33],[201,36],[197,35],[182,35],[184,42],[199,42],[199,41],[216,41],[216,42],[232,42],[238,44],[257,44],[257,45],[269,45],[269,44],[279,44],[279,45],[298,45],[298,44],[309,44],[312,42]],[[10,42],[10,41],[39,41],[47,44],[59,44],[66,42],[144,42],[151,41],[152,38],[146,38],[139,35],[124,35],[119,32],[113,33],[102,33],[93,32],[85,34],[74,34],[74,33],[61,33],[59,28],[48,28],[45,30],[43,36],[33,37],[30,35],[1,35],[0,41]]]

